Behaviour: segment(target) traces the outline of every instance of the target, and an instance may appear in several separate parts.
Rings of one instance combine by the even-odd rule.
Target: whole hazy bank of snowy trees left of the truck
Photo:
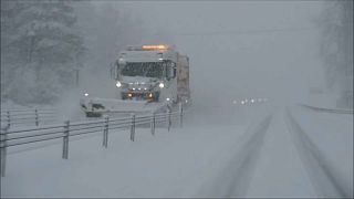
[[[81,77],[108,80],[118,51],[144,39],[133,11],[112,1],[1,0],[1,97],[56,101],[77,66]]]

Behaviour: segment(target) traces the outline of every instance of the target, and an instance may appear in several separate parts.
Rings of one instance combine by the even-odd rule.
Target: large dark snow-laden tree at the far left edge
[[[74,83],[85,51],[75,22],[67,1],[1,1],[2,96],[49,103]]]

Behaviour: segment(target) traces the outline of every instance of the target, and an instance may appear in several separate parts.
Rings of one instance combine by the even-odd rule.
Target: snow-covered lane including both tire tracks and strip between
[[[301,114],[309,116],[306,112]],[[312,125],[319,125],[316,119],[323,118],[313,118]],[[347,161],[343,158],[333,159],[329,153],[343,147],[333,139],[327,143],[327,148],[323,148],[323,139],[313,136],[319,133],[322,136],[336,136],[334,132],[324,129],[325,126],[320,126],[322,130],[316,133],[304,130],[287,107],[274,108],[261,122],[254,121],[249,123],[249,129],[236,142],[236,149],[231,151],[233,159],[209,185],[207,197],[353,197],[353,168],[346,167]],[[334,125],[337,121],[329,122]],[[350,150],[348,147],[345,149]],[[351,151],[345,154],[353,155]]]

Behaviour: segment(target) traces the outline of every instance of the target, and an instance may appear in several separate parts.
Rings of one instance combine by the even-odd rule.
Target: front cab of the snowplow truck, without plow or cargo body
[[[177,56],[167,45],[128,46],[122,51],[111,71],[117,98],[176,103]]]

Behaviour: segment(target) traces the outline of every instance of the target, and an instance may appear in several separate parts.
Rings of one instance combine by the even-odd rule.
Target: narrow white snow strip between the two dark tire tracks
[[[316,197],[282,112],[274,115],[267,135],[247,197]]]

